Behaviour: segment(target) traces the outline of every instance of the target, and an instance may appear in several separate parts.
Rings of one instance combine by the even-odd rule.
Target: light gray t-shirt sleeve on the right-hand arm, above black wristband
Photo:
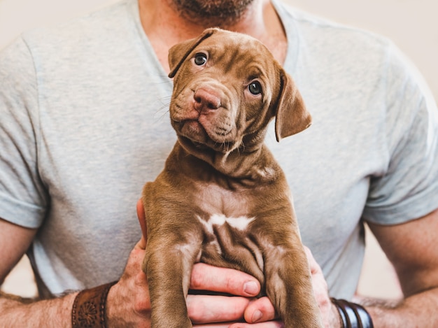
[[[395,47],[386,73],[386,171],[370,180],[364,218],[407,222],[438,208],[438,110],[421,75]]]

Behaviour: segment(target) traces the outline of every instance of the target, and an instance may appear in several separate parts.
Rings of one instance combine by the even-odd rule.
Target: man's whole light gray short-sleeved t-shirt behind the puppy
[[[267,144],[330,294],[348,299],[362,220],[397,224],[438,206],[438,111],[386,39],[275,6],[313,125],[281,143],[271,127]],[[141,188],[176,141],[171,89],[136,0],[1,52],[0,218],[39,228],[28,254],[43,296],[120,278],[141,236]]]

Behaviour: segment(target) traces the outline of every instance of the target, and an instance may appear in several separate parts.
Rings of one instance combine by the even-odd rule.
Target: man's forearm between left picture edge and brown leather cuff
[[[76,293],[44,301],[20,300],[0,294],[1,327],[71,327]]]

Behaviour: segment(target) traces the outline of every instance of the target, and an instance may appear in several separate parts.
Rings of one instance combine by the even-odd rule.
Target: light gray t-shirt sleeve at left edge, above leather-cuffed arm
[[[38,174],[38,87],[22,38],[0,52],[0,218],[36,228],[47,192]]]

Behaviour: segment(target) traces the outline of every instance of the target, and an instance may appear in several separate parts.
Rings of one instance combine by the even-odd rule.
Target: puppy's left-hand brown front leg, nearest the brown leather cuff
[[[169,235],[148,240],[143,271],[148,278],[153,328],[192,327],[185,298],[200,241],[177,240],[177,236]]]

